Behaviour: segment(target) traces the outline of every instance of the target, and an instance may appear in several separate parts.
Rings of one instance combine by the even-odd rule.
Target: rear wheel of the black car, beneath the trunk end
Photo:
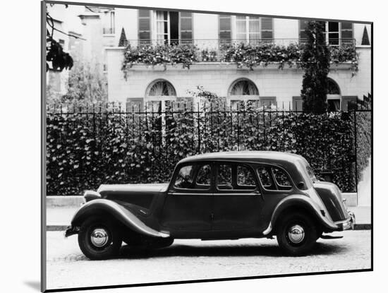
[[[280,220],[277,242],[281,249],[293,256],[303,255],[313,249],[317,241],[315,222],[303,213],[292,213]]]

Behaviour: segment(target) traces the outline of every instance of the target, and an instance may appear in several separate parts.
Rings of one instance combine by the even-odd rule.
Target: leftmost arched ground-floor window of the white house
[[[145,92],[145,103],[151,111],[164,111],[166,105],[176,100],[176,90],[169,81],[154,80]]]

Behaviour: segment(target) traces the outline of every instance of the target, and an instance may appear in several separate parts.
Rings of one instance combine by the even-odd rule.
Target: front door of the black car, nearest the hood
[[[161,225],[170,231],[209,231],[212,177],[212,164],[208,162],[178,166],[164,201]]]

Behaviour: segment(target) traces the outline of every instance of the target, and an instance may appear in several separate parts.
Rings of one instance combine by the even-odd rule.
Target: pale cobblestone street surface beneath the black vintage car
[[[123,246],[119,258],[90,261],[76,235],[47,232],[47,289],[370,268],[369,230],[333,235],[344,238],[319,239],[301,257],[283,256],[276,239],[176,240],[154,251]]]

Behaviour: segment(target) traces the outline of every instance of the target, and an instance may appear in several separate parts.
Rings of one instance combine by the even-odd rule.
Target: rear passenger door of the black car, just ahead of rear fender
[[[257,229],[263,197],[255,171],[248,164],[215,164],[213,230]]]

